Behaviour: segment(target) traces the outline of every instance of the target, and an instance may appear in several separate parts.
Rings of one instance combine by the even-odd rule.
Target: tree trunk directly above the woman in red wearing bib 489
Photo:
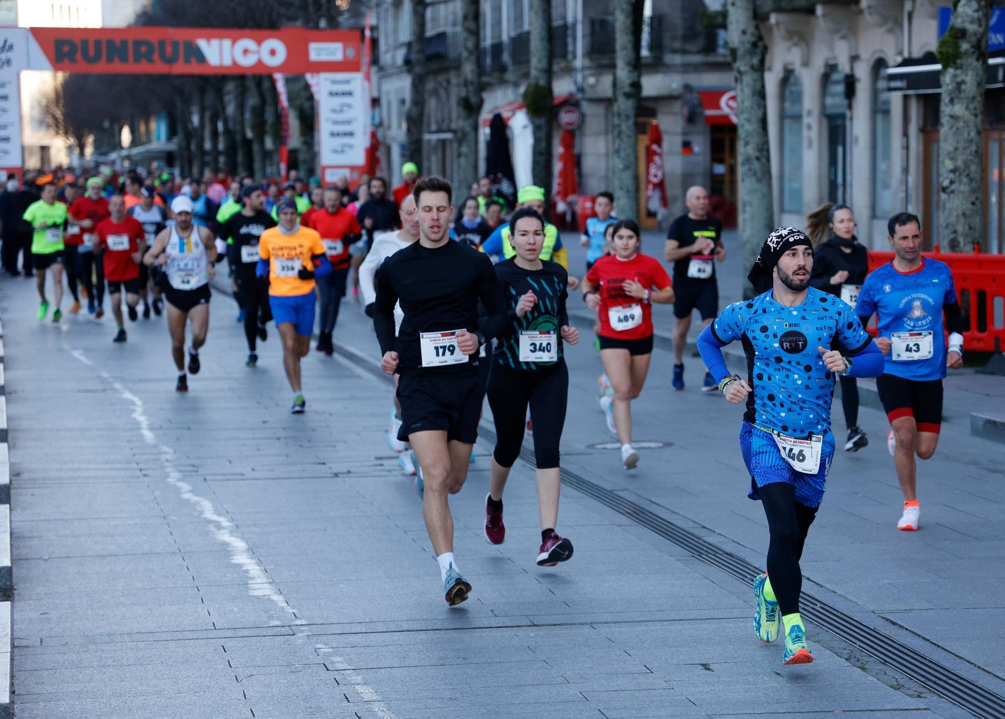
[[[616,0],[614,9],[614,201],[618,218],[638,219],[635,115],[642,94],[642,3]]]

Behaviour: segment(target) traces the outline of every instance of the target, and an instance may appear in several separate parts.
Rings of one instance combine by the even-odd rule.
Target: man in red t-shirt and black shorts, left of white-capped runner
[[[134,206],[138,207],[138,206]],[[126,288],[126,304],[129,319],[137,318],[136,305],[140,301],[140,264],[147,250],[147,233],[140,222],[126,214],[126,200],[122,195],[113,195],[109,200],[110,216],[97,223],[94,252],[103,255],[105,277],[109,281],[112,296],[112,313],[116,318],[119,332],[112,340],[126,341],[126,326],[123,322],[123,287]]]

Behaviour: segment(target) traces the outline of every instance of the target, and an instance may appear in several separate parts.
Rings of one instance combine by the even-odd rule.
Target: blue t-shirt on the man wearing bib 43
[[[932,356],[928,360],[899,361],[890,350],[885,358],[885,375],[920,382],[946,377],[946,332],[943,305],[957,302],[953,273],[949,265],[931,257],[913,272],[899,272],[887,262],[871,272],[858,294],[855,312],[862,317],[876,314],[879,335],[891,332],[932,332]]]

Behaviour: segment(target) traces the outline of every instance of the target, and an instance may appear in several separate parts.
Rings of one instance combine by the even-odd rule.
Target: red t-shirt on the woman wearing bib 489
[[[658,260],[635,253],[630,260],[618,259],[617,255],[601,257],[586,273],[586,281],[598,288],[600,306],[597,315],[600,318],[600,334],[612,339],[644,339],[652,334],[652,305],[638,297],[625,294],[622,284],[626,280],[634,280],[646,289],[664,289],[670,284],[670,277]],[[611,326],[611,310],[617,307],[640,305],[641,321],[635,324],[631,311],[615,312],[615,322],[620,322],[626,328],[615,329]],[[618,317],[621,317],[619,320]],[[635,326],[629,326],[635,324]]]

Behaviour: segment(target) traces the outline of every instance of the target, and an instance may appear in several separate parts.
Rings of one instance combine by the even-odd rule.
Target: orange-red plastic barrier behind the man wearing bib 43
[[[953,272],[963,310],[964,347],[986,352],[1005,347],[1005,255],[938,250],[924,254],[945,262]],[[870,251],[869,272],[892,259],[892,252]]]

